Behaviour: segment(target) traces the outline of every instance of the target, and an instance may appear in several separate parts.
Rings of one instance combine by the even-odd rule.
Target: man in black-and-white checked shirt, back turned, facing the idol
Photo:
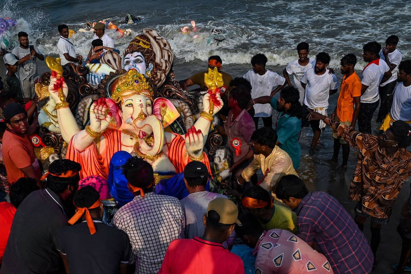
[[[169,244],[183,237],[185,217],[180,201],[153,193],[151,165],[133,157],[123,166],[134,199],[114,215],[114,225],[127,233],[132,245],[129,263],[137,274],[158,273]]]

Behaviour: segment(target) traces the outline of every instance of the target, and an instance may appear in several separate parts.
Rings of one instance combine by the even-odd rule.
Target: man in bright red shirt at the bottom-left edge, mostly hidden
[[[30,193],[38,190],[37,182],[31,178],[21,178],[10,187],[10,203],[0,203],[0,265],[6,249],[7,239],[9,239],[10,228],[12,227],[14,214],[17,207]]]

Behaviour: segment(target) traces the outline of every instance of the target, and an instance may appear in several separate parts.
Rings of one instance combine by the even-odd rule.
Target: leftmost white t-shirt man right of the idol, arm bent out
[[[252,86],[251,97],[258,98],[261,96],[274,96],[287,84],[285,78],[277,73],[266,69],[268,59],[266,55],[258,53],[251,58],[252,69],[244,74]],[[275,90],[273,90],[273,88]],[[272,127],[272,107],[270,104],[255,104],[255,114],[253,117],[256,129],[258,129],[259,118],[263,120],[264,127]]]

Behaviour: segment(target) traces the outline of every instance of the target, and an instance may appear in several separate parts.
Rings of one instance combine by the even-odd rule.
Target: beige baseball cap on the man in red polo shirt
[[[238,220],[238,208],[231,200],[227,198],[215,198],[208,203],[207,216],[211,210],[214,210],[220,216],[219,223],[225,225],[236,223],[241,225],[241,222]]]

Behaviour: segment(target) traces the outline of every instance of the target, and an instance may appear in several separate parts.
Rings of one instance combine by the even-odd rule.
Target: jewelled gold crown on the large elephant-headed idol
[[[131,92],[123,95],[125,92]],[[134,94],[143,94],[145,97],[153,100],[154,92],[150,85],[145,81],[143,74],[135,69],[130,69],[127,74],[120,76],[118,82],[115,84],[111,92],[111,99],[116,103],[123,102],[124,98],[130,97]]]

